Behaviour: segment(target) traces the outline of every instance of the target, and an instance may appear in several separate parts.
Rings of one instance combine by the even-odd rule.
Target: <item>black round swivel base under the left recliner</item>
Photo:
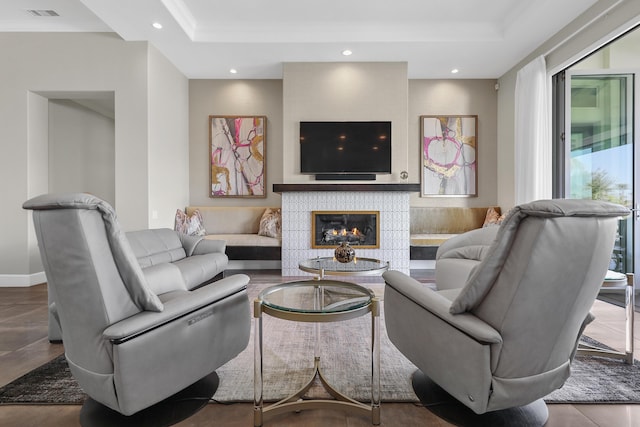
[[[171,397],[133,415],[123,415],[87,397],[80,409],[82,427],[165,427],[185,420],[202,409],[218,389],[212,372]]]

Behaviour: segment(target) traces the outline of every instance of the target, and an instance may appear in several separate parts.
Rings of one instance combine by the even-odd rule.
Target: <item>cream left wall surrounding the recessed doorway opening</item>
[[[149,131],[160,119],[149,119],[148,49],[110,33],[0,33],[0,284],[41,271],[31,218],[22,209],[25,200],[48,191],[42,179],[48,162],[34,137],[46,126],[42,109],[31,105],[42,106],[36,93],[115,92],[118,218],[125,230],[149,226]]]

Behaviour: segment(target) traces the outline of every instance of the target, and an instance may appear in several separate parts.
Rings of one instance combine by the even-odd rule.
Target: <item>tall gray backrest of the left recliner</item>
[[[48,194],[32,209],[40,256],[53,294],[67,357],[92,372],[111,373],[102,331],[142,310],[161,311],[115,212],[88,194]]]

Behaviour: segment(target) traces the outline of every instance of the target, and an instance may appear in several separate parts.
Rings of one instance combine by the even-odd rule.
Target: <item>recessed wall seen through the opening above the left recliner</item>
[[[115,204],[114,120],[72,101],[49,101],[49,192],[91,193]]]

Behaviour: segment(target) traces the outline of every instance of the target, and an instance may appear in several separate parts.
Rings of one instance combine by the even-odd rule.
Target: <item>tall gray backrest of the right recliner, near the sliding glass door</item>
[[[628,213],[586,200],[512,210],[451,307],[500,332],[494,376],[531,376],[572,357],[609,265],[618,218]]]

